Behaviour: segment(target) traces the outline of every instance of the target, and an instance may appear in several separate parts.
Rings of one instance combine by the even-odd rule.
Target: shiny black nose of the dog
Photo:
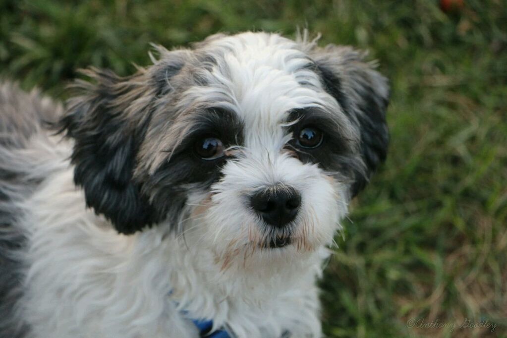
[[[277,185],[257,192],[251,197],[250,203],[266,223],[283,227],[296,218],[301,195],[292,187]]]

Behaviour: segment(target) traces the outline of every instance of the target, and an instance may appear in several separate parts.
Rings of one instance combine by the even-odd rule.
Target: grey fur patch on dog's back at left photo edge
[[[60,106],[41,98],[38,91],[27,94],[14,84],[0,84],[0,337],[21,338],[28,331],[17,304],[23,294],[26,250],[26,237],[17,220],[22,215],[19,203],[40,182],[33,178],[37,175],[28,177],[23,168],[15,169],[7,155],[25,148],[30,137],[61,112]]]

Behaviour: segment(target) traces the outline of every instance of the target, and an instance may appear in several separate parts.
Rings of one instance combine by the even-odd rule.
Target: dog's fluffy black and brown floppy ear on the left
[[[136,155],[150,122],[157,86],[146,71],[120,78],[110,70],[83,73],[80,96],[70,99],[61,131],[74,139],[74,180],[83,187],[86,204],[110,219],[118,232],[131,234],[159,215],[133,179]]]

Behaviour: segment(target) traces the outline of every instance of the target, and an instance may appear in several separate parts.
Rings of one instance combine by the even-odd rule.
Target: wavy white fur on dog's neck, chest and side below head
[[[69,147],[60,147],[55,156],[64,163]],[[269,264],[267,253],[238,256],[224,268],[211,249],[188,246],[182,234],[161,231],[169,224],[119,235],[85,207],[72,167],[52,170],[57,172],[47,175],[25,205],[26,261],[35,263],[27,270],[23,303],[30,305],[24,311],[38,336],[80,336],[82,327],[96,328],[97,336],[118,336],[119,327],[125,337],[196,333],[182,316],[212,319],[239,336],[277,337],[287,327],[318,336],[313,285],[328,255],[324,248],[293,249],[283,259],[271,252]],[[55,299],[66,299],[65,305],[55,307]]]

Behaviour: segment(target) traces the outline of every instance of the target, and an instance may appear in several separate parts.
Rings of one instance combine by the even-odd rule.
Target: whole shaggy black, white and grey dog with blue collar
[[[388,146],[388,82],[277,33],[0,88],[0,336],[320,337],[316,280]],[[335,243],[336,244],[336,243]]]

